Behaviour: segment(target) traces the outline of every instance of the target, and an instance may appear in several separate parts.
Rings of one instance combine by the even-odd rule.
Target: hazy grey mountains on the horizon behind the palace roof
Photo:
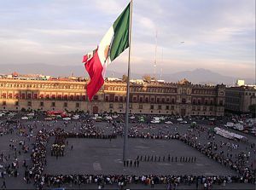
[[[0,65],[0,74],[11,74],[12,72],[18,72],[20,74],[43,74],[54,77],[65,77],[65,76],[78,76],[88,77],[85,72],[84,65],[81,64],[75,66],[55,66],[49,64],[3,64]],[[106,77],[122,78],[125,72],[113,72],[107,70]],[[131,78],[142,78],[145,73],[131,73]],[[153,76],[153,74],[151,74]],[[212,72],[207,69],[197,68],[193,71],[174,72],[170,74],[162,74],[162,79],[166,82],[177,82],[183,78],[186,78],[192,83],[224,83],[227,85],[234,84],[237,77],[228,77],[219,74],[218,72]],[[158,78],[159,79],[159,78]],[[242,78],[247,84],[254,83],[253,78]]]

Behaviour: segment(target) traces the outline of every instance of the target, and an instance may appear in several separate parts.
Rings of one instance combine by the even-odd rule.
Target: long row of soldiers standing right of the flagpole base
[[[151,155],[151,157],[148,155],[148,157],[146,156],[146,155],[144,155],[144,158],[143,158],[143,155],[137,155],[137,160],[140,160],[140,161],[144,161],[144,162],[160,162],[160,161],[162,161],[162,162],[166,162],[166,161],[168,161],[168,162],[177,162],[178,160],[179,160],[179,162],[191,162],[191,163],[195,163],[195,161],[196,161],[196,157],[179,157],[179,158],[177,158],[177,157],[172,157],[171,158],[171,156],[170,156],[170,154],[168,155],[168,157],[166,158],[165,156],[157,156],[157,155],[155,155],[155,156],[153,156],[153,155]]]

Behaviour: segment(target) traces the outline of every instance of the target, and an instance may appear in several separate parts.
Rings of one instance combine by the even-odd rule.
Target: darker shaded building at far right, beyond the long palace
[[[226,88],[225,110],[246,113],[253,104],[256,104],[256,86]]]

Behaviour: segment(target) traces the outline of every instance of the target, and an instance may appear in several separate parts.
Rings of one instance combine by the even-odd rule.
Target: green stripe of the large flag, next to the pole
[[[113,23],[113,42],[110,49],[110,60],[114,60],[129,47],[130,3]]]

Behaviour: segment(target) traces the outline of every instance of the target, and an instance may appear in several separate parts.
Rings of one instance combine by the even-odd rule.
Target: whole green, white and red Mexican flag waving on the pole
[[[129,26],[130,3],[113,22],[97,49],[84,55],[83,63],[90,76],[90,82],[87,84],[89,101],[101,89],[107,66],[129,47]]]

